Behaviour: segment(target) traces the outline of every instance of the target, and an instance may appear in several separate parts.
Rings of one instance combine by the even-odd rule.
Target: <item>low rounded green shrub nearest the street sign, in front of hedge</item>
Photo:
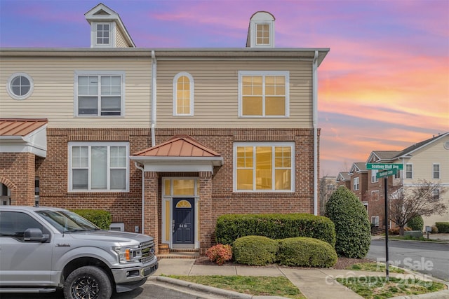
[[[286,266],[332,267],[337,263],[337,252],[320,239],[295,237],[279,240],[277,260]]]

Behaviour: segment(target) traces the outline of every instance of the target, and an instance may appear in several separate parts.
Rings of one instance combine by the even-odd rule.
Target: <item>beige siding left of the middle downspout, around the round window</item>
[[[0,116],[48,118],[48,127],[149,127],[150,68],[145,57],[2,57]],[[125,73],[125,116],[74,116],[74,72],[107,70]],[[34,81],[27,99],[12,99],[6,91],[8,78],[18,72]]]

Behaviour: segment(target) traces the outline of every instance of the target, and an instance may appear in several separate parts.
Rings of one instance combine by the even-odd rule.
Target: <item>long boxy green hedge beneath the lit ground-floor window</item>
[[[226,214],[217,218],[217,244],[232,244],[239,237],[270,239],[313,237],[335,245],[335,226],[329,218],[312,214]]]

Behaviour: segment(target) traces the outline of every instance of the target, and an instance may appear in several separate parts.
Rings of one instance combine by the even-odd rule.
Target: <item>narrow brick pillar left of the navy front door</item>
[[[158,173],[157,172],[145,172],[145,235],[150,235],[154,237],[154,244],[156,253],[158,251],[159,244],[159,225],[158,225],[158,195],[159,195],[159,184],[158,184]]]

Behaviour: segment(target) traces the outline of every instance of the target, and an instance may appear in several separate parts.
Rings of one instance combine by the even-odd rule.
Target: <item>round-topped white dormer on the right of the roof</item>
[[[257,11],[250,18],[246,46],[250,48],[274,48],[274,15]]]

